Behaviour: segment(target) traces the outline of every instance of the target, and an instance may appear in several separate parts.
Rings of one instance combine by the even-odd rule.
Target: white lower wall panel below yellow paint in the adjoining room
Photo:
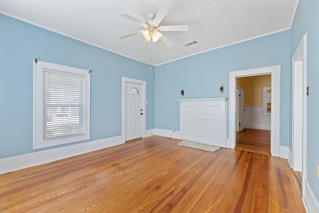
[[[271,130],[270,115],[263,115],[263,107],[245,106],[245,126],[248,129]]]

